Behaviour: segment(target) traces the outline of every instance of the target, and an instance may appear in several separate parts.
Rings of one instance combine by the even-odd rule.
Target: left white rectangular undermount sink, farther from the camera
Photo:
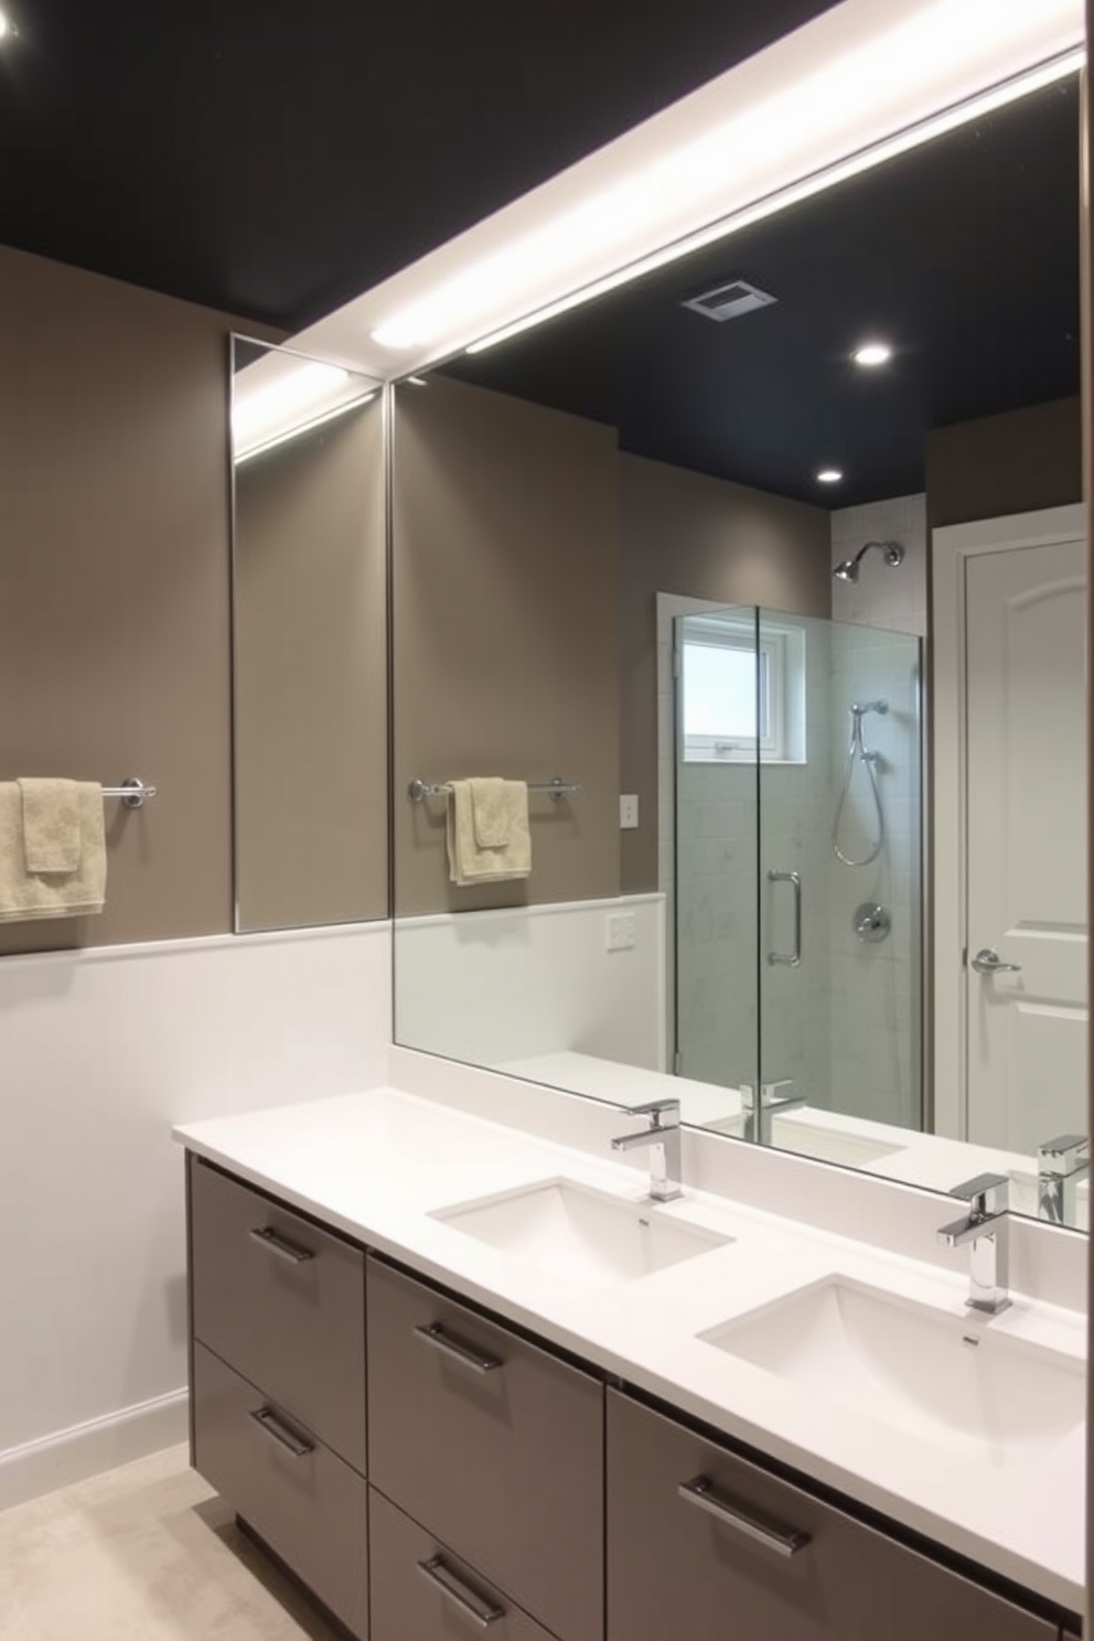
[[[656,1203],[628,1203],[572,1180],[535,1185],[441,1208],[454,1231],[576,1282],[636,1282],[733,1237],[668,1218]]]

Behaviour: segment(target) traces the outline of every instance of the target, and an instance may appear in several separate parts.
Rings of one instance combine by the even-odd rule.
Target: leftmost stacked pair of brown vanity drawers
[[[194,1467],[367,1636],[364,1254],[197,1157]]]

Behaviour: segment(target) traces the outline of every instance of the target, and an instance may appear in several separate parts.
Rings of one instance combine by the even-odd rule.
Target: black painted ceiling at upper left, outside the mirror
[[[832,0],[0,0],[0,243],[302,328]]]

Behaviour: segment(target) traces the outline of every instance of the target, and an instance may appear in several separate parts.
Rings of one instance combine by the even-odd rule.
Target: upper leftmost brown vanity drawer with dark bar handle
[[[364,1474],[364,1255],[197,1159],[194,1332]]]

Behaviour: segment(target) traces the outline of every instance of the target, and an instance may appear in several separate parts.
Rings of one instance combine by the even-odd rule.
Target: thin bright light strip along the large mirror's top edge
[[[1007,80],[1005,85],[997,85],[991,92],[984,92],[956,108],[948,108],[943,113],[932,115],[930,120],[923,120],[920,125],[915,125],[907,131],[900,131],[881,143],[873,143],[861,153],[851,154],[838,164],[827,166],[812,177],[804,177],[800,182],[779,189],[766,199],[756,200],[754,205],[748,205],[745,210],[733,212],[730,217],[723,217],[720,222],[713,222],[707,228],[699,228],[695,233],[689,233],[682,240],[676,240],[672,245],[663,246],[659,251],[651,251],[648,256],[641,256],[636,261],[628,263],[627,267],[620,267],[612,274],[605,274],[602,279],[595,279],[577,290],[571,290],[556,302],[549,302],[546,307],[536,309],[508,325],[502,325],[500,330],[490,331],[489,335],[479,338],[479,341],[469,343],[464,351],[484,353],[487,348],[494,348],[500,341],[508,341],[510,336],[518,336],[522,331],[531,330],[535,325],[543,325],[545,320],[556,318],[559,313],[568,313],[571,309],[581,307],[584,302],[592,302],[595,297],[605,295],[609,290],[615,290],[618,286],[625,286],[631,279],[640,279],[643,274],[651,274],[658,267],[666,267],[669,263],[677,261],[681,256],[687,256],[691,251],[700,251],[705,245],[713,245],[717,240],[725,240],[733,233],[740,233],[743,228],[751,228],[766,217],[774,217],[777,212],[787,210],[791,205],[800,205],[815,194],[836,187],[836,184],[850,181],[850,177],[861,176],[863,171],[871,171],[874,166],[881,166],[887,159],[897,159],[900,154],[907,154],[912,148],[919,148],[922,143],[930,143],[937,136],[945,136],[946,131],[953,131],[960,125],[979,120],[986,113],[992,113],[996,108],[1004,108],[1010,102],[1027,97],[1030,92],[1042,90],[1055,80],[1066,79],[1084,64],[1086,49],[1064,53],[1053,62],[1046,62],[1038,69],[1032,69],[1028,74]]]

